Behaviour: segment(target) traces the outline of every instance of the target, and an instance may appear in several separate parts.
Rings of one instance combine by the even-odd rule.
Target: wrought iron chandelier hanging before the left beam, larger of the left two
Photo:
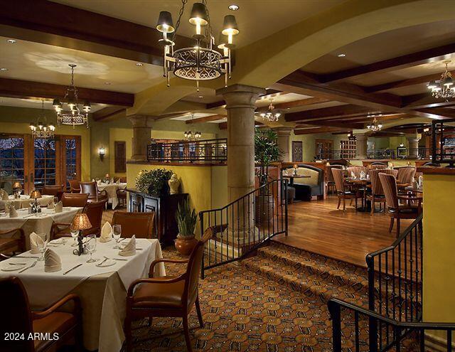
[[[80,109],[77,100],[77,88],[74,85],[74,68],[76,65],[70,63],[68,66],[71,68],[71,85],[66,88],[65,97],[63,97],[63,100],[66,101],[66,109],[63,105],[64,102],[60,102],[59,99],[54,99],[52,104],[55,112],[57,112],[57,124],[70,124],[73,128],[78,124],[87,124],[88,128],[88,113],[92,107],[90,102],[86,100]]]

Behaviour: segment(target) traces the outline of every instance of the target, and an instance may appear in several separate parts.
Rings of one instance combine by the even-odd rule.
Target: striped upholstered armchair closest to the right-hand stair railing
[[[392,232],[394,220],[397,219],[397,237],[400,236],[400,219],[415,219],[419,215],[420,206],[405,205],[400,206],[400,196],[398,196],[397,180],[395,176],[388,174],[379,174],[379,179],[382,189],[385,194],[385,201],[387,203],[387,214],[390,216],[389,232]],[[407,201],[412,198],[402,198]]]

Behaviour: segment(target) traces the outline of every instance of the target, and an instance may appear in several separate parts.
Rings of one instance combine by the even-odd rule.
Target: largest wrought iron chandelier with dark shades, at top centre
[[[159,40],[159,43],[164,46],[163,75],[167,79],[168,87],[170,85],[170,72],[173,72],[178,78],[196,80],[198,91],[200,80],[215,80],[223,74],[225,75],[225,86],[227,86],[231,73],[230,50],[235,48],[235,45],[232,44],[232,37],[239,33],[235,16],[228,15],[224,18],[220,43],[218,43],[218,48],[223,50],[222,54],[214,49],[215,38],[210,26],[207,1],[194,3],[189,21],[193,26],[196,26],[196,33],[193,34],[195,45],[191,48],[174,50],[178,27],[185,11],[185,5],[188,2],[188,0],[181,1],[182,6],[175,27],[173,26],[172,15],[168,11],[160,12],[156,24],[156,29],[163,33],[163,38]],[[202,27],[204,27],[204,33],[202,33]]]

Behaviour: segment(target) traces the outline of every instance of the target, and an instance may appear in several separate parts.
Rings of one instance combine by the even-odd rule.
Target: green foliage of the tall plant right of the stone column
[[[259,164],[259,186],[269,181],[269,165],[282,155],[278,134],[272,129],[255,129],[255,161]]]

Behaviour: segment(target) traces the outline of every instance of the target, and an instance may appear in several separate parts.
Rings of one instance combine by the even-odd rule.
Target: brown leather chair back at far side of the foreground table
[[[122,226],[122,238],[152,238],[154,233],[155,213],[127,213],[116,211],[112,217],[112,225]]]

